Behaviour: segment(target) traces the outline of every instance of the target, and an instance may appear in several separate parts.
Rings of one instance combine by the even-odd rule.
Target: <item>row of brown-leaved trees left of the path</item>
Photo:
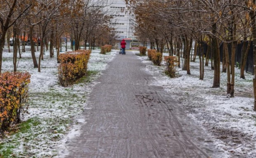
[[[113,28],[109,26],[111,17],[105,9],[109,4],[105,0],[0,0],[0,4],[0,72],[4,43],[9,45],[11,37],[14,38],[14,71],[18,52],[21,58],[20,52],[25,52],[25,40],[28,37],[34,68],[40,72],[44,46],[47,50],[49,48],[50,57],[53,57],[55,47],[58,59],[62,37],[74,40],[74,49],[78,50],[81,41],[85,46],[89,43],[89,47],[94,48],[95,45],[107,43],[114,36],[111,34]],[[35,45],[39,41],[42,47],[37,59]],[[21,44],[22,50],[19,47]]]

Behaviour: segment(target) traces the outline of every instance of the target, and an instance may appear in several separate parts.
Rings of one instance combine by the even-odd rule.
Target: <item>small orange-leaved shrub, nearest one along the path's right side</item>
[[[164,57],[166,61],[166,74],[171,78],[175,77],[176,66],[178,65],[178,59],[175,56],[166,56]]]

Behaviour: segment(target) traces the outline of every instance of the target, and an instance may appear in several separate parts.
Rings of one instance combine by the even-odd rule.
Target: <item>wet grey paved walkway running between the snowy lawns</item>
[[[150,86],[154,79],[144,68],[128,51],[109,63],[90,94],[82,134],[68,143],[67,158],[222,157],[172,94]]]

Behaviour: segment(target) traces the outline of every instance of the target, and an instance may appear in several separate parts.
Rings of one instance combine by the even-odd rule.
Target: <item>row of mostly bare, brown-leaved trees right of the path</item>
[[[237,43],[253,41],[248,46],[246,42],[243,45],[241,78],[245,79],[244,68],[250,44],[253,44],[256,65],[256,0],[126,0],[126,3],[135,13],[135,29],[141,41],[150,40],[151,46],[156,46],[160,52],[167,46],[169,54],[177,54],[179,61],[183,48],[183,69],[187,74],[190,74],[190,61],[195,61],[190,55],[192,43],[196,43],[194,49],[199,51],[200,79],[203,79],[204,66],[208,65],[211,50],[213,88],[220,86],[219,46],[223,43],[222,71],[227,72],[227,93],[231,97],[234,97]],[[204,43],[209,45],[205,63],[202,53]],[[255,74],[253,76],[256,111],[256,77]]]

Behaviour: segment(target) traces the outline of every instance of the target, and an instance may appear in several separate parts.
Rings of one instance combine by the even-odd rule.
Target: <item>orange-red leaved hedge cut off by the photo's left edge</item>
[[[0,74],[0,133],[11,123],[20,121],[20,113],[25,110],[28,98],[28,72],[5,72]]]

